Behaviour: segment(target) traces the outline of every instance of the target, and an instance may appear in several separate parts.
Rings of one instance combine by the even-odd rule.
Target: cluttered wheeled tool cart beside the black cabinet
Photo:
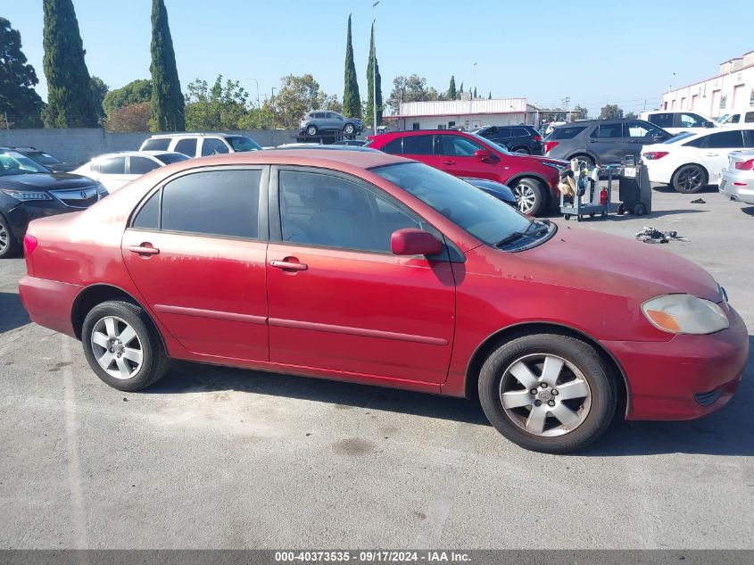
[[[576,221],[581,221],[587,214],[590,218],[598,214],[601,218],[607,217],[613,176],[609,166],[604,171],[608,175],[608,187],[602,189],[599,185],[600,167],[590,171],[585,162],[574,159],[569,169],[560,172],[560,213],[566,220],[576,216]]]

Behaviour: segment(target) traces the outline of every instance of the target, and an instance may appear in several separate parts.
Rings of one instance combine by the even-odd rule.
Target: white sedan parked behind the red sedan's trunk
[[[123,151],[95,157],[72,172],[100,181],[112,193],[150,170],[188,159],[168,151]]]

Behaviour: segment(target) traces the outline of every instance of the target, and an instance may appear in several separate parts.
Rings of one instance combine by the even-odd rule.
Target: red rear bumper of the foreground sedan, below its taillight
[[[21,303],[29,318],[45,328],[76,337],[70,320],[73,301],[83,287],[45,278],[24,277],[19,281]]]

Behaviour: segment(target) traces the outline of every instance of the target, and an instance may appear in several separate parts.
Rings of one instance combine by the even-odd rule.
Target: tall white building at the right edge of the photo
[[[754,51],[720,64],[717,75],[662,95],[662,110],[693,110],[717,118],[754,108]]]

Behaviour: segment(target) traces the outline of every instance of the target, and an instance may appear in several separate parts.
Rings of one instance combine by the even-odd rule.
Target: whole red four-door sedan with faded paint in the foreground
[[[110,386],[169,359],[475,396],[550,453],[615,416],[684,420],[733,395],[748,337],[708,272],[530,219],[374,151],[231,154],[34,220],[21,299]]]

